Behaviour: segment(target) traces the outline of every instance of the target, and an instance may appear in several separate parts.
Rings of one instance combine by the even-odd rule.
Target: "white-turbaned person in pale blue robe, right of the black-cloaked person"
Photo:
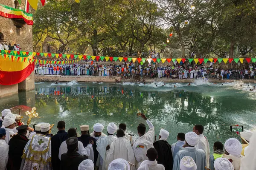
[[[180,170],[180,161],[184,156],[190,156],[195,161],[197,170],[204,170],[206,166],[206,157],[204,150],[198,149],[196,145],[199,143],[199,137],[195,132],[185,134],[186,144],[180,147],[180,151],[176,154],[172,170]]]

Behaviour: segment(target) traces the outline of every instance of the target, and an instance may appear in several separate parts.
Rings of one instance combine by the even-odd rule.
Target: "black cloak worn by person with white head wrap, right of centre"
[[[157,150],[157,163],[162,164],[166,170],[172,170],[172,146],[166,141],[157,141],[153,143],[154,148]]]

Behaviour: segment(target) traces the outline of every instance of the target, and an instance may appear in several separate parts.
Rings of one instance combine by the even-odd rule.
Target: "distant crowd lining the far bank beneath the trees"
[[[35,74],[52,75],[88,75],[88,76],[122,76],[130,78],[171,78],[171,79],[255,79],[256,65],[245,65],[243,69],[223,69],[218,65],[186,65],[178,64],[170,66],[156,66],[155,62],[146,66],[143,63],[135,65],[133,62],[121,62],[119,65],[104,64],[73,64],[73,65],[36,65]]]

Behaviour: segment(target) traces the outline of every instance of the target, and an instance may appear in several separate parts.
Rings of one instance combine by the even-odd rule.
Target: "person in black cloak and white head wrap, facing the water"
[[[163,164],[166,170],[172,170],[173,157],[172,146],[167,142],[169,132],[161,129],[159,133],[159,140],[154,142],[154,148],[157,150],[158,158],[156,159],[158,164]]]

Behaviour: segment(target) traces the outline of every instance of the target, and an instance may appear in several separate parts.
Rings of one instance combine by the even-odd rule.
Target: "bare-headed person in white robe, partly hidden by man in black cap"
[[[76,129],[74,127],[71,127],[67,131],[68,138],[70,137],[77,137]],[[66,141],[61,143],[58,158],[61,160],[61,155],[63,153],[67,153],[67,143]],[[84,147],[83,143],[78,141],[78,151],[80,155],[86,155],[88,159],[94,161],[94,152],[93,152],[93,141],[90,141],[87,147]]]

